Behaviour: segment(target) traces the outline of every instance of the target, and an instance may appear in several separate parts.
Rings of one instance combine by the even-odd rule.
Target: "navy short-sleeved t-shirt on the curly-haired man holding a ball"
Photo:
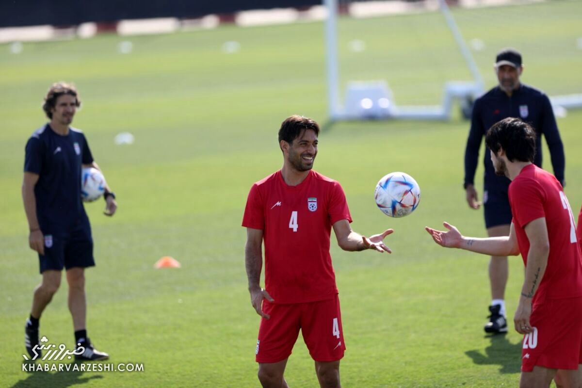
[[[78,129],[70,127],[62,136],[46,124],[26,143],[24,172],[39,175],[34,195],[43,233],[68,232],[88,223],[81,201],[81,163],[93,163],[93,156]]]

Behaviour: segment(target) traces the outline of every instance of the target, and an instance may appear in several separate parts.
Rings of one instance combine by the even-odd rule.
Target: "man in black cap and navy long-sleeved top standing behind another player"
[[[478,202],[477,190],[474,187],[481,140],[494,123],[505,118],[521,118],[534,128],[537,134],[534,164],[538,167],[542,166],[541,137],[542,134],[545,136],[551,153],[553,173],[562,186],[565,184],[564,148],[548,96],[540,90],[520,83],[519,77],[523,73],[523,65],[521,64],[521,54],[515,49],[506,48],[499,52],[494,68],[499,85],[475,101],[465,150],[463,187],[466,190],[467,203],[472,209],[478,209],[481,205],[481,202]],[[495,175],[487,147],[485,147],[484,163],[482,204],[485,208],[487,234],[489,237],[509,236],[512,221],[508,200],[510,180],[505,176]],[[508,331],[504,300],[508,272],[507,257],[491,257],[489,281],[492,302],[489,306],[491,313],[489,322],[484,328],[487,333],[496,334]]]

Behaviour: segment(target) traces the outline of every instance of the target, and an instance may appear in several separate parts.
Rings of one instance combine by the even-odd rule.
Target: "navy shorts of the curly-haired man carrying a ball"
[[[62,270],[95,265],[91,226],[84,225],[71,232],[44,232],[44,255],[38,255],[40,273],[47,269]]]

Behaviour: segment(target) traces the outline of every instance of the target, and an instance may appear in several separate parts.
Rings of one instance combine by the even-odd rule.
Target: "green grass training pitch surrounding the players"
[[[495,84],[495,52],[514,45],[524,54],[523,81],[560,94],[582,91],[581,12],[582,2],[561,1],[455,16],[468,41],[485,42],[475,59],[488,87]],[[397,102],[432,104],[446,80],[469,79],[438,13],[339,24],[344,81],[385,77]],[[345,50],[352,38],[366,42],[360,56]],[[132,54],[118,54],[123,40],[133,42]],[[240,52],[223,54],[226,41],[240,42]],[[299,113],[325,123],[322,24],[100,35],[23,47],[13,55],[0,45],[0,386],[258,386],[259,319],[246,289],[240,222],[251,184],[282,165],[281,121]],[[144,372],[21,371],[24,319],[40,280],[20,199],[24,144],[45,122],[41,98],[57,80],[79,87],[83,107],[74,126],[86,132],[119,203],[112,219],[101,215],[102,201],[86,205],[97,261],[87,272],[88,333],[111,362],[143,363]],[[582,111],[569,111],[558,124],[566,194],[577,213]],[[320,134],[315,169],[342,184],[354,230],[395,229],[386,240],[392,255],[343,252],[332,237],[345,387],[500,387],[519,380],[519,334],[482,332],[488,258],[439,248],[423,230],[448,220],[467,235],[485,235],[482,212],[467,207],[462,189],[468,128],[461,119],[349,122]],[[122,131],[134,134],[133,145],[113,143]],[[544,167],[551,170],[547,149]],[[417,211],[403,219],[382,215],[373,200],[377,180],[397,170],[422,189]],[[480,162],[480,194],[481,175]],[[182,268],[155,270],[164,255]],[[521,259],[510,259],[510,316],[522,280]],[[63,280],[41,334],[70,347],[66,292]],[[317,384],[301,339],[286,378],[293,387]]]

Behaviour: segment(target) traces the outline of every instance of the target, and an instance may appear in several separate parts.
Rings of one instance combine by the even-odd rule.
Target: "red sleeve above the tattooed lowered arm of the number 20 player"
[[[518,183],[517,186],[512,184],[509,187],[513,222],[520,227],[526,227],[533,220],[545,217],[545,193],[534,180],[520,180],[515,183]]]

